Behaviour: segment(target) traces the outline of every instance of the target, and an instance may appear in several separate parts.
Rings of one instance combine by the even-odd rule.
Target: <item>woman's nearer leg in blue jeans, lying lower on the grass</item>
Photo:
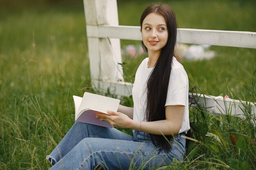
[[[151,142],[141,142],[144,139],[143,132],[134,138],[135,141],[84,138],[51,170],[93,170],[98,166],[108,170],[137,169],[139,166],[149,169],[171,163],[173,157],[182,159],[185,140],[180,135],[175,136],[169,152],[159,152]]]

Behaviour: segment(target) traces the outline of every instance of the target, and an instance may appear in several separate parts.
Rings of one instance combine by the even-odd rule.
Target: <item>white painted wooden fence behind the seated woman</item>
[[[124,82],[120,64],[120,39],[142,40],[139,26],[120,26],[116,0],[83,0],[88,37],[91,80],[101,92],[109,90],[121,96],[130,96],[132,83]],[[256,32],[178,29],[177,42],[208,44],[256,49]],[[209,112],[245,117],[243,104],[256,114],[256,104],[210,95],[198,96]]]

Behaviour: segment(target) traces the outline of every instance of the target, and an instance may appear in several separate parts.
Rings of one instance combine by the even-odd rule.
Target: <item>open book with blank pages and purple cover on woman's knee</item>
[[[97,113],[108,114],[108,110],[116,112],[120,103],[119,99],[88,92],[85,92],[83,97],[73,96],[73,98],[76,121],[112,128],[108,121],[100,121],[100,118],[95,118],[95,116]]]

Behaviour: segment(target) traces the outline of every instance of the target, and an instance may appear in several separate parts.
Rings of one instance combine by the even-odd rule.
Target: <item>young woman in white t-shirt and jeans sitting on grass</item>
[[[133,137],[115,128],[76,122],[47,156],[55,169],[147,168],[182,161],[189,130],[189,84],[173,57],[177,26],[166,5],[151,5],[141,15],[142,46],[148,53],[135,75],[134,108],[119,106],[97,114],[114,127],[131,128]],[[147,169],[146,168],[146,169]]]

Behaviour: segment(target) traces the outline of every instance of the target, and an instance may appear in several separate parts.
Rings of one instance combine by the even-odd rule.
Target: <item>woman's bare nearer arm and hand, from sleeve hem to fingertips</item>
[[[135,130],[141,129],[143,132],[155,135],[176,135],[180,131],[182,125],[184,108],[185,106],[182,105],[166,106],[166,119],[150,122],[134,121],[124,113],[113,111],[108,112],[111,115],[97,114],[96,117],[108,121],[114,127],[131,128]]]

